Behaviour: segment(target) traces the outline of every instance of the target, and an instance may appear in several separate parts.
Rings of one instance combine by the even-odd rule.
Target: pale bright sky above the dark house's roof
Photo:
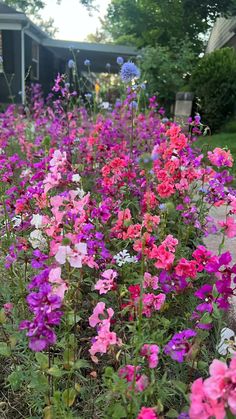
[[[41,16],[43,19],[54,19],[54,26],[58,28],[57,39],[84,41],[88,34],[95,33],[100,27],[99,17],[104,17],[110,0],[97,0],[95,3],[99,5],[100,12],[89,16],[79,0],[61,0],[60,5],[57,5],[57,0],[46,0]]]

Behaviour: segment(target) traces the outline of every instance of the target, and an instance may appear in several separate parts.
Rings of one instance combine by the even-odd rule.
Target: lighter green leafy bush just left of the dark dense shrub
[[[143,79],[148,81],[148,91],[158,95],[165,109],[174,103],[176,92],[188,83],[196,61],[190,42],[146,47],[142,51]]]

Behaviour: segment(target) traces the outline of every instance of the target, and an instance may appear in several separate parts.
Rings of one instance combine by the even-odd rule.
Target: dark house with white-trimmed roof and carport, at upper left
[[[133,48],[122,45],[52,39],[24,13],[0,3],[0,102],[7,103],[14,96],[16,103],[24,104],[27,83],[40,83],[45,94],[49,93],[56,75],[67,71],[71,49],[77,51],[80,73],[86,70],[86,59],[94,73],[106,72],[107,63],[117,73],[118,56],[128,60],[137,55]]]

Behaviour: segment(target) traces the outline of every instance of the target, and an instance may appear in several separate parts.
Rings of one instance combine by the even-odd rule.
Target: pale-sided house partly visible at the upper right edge
[[[207,43],[206,53],[223,47],[236,48],[236,16],[230,19],[219,17],[216,20]]]

